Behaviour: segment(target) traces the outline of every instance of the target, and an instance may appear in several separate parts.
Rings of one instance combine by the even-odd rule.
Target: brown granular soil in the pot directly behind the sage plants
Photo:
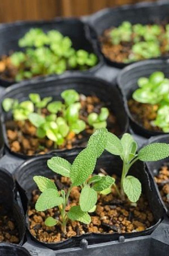
[[[58,146],[57,149],[71,149],[74,147],[86,146],[86,142],[90,135],[94,132],[93,128],[89,126],[87,117],[91,112],[100,113],[102,107],[109,109],[110,103],[103,103],[96,96],[80,97],[81,109],[80,119],[85,121],[86,129],[75,135],[69,132],[63,145]],[[50,114],[47,109],[42,109],[42,114]],[[107,118],[107,129],[115,133],[117,136],[121,134],[120,128],[116,122],[115,115],[109,110],[109,117]],[[6,131],[9,146],[12,151],[24,155],[44,154],[54,149],[54,142],[50,139],[40,139],[36,136],[36,127],[33,126],[29,120],[23,121],[7,121]]]

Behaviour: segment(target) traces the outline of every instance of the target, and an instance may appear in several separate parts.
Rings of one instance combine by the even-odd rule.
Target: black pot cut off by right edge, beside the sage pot
[[[161,136],[155,136],[154,138],[150,138],[149,143],[156,143],[156,142],[162,142],[162,143],[168,143],[169,144],[169,135],[161,135]],[[159,169],[162,165],[169,165],[169,157],[162,159],[157,162],[146,162],[146,167],[148,168],[149,172],[151,173],[152,180],[154,180],[154,176],[158,174]],[[160,198],[161,204],[163,205],[164,211],[169,215],[169,208],[167,209],[166,205],[163,202],[163,199],[161,198],[160,192],[158,190],[157,183],[154,181],[158,197]]]

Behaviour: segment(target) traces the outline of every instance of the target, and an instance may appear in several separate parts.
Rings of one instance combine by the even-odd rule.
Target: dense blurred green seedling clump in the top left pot
[[[11,63],[17,68],[15,80],[30,79],[33,76],[61,74],[65,70],[92,67],[97,64],[97,56],[85,50],[75,50],[68,36],[57,30],[44,33],[32,28],[18,41],[24,52],[14,52]]]

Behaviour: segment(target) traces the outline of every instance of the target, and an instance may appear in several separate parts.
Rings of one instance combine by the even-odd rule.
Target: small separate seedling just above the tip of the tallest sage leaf
[[[95,129],[103,128],[107,126],[107,118],[109,116],[109,110],[107,108],[101,108],[100,114],[91,113],[88,115],[88,123]]]

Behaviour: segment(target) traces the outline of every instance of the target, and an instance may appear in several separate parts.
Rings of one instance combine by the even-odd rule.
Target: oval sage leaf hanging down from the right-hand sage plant
[[[134,176],[127,176],[123,181],[123,189],[128,199],[136,203],[142,192],[142,185]]]

